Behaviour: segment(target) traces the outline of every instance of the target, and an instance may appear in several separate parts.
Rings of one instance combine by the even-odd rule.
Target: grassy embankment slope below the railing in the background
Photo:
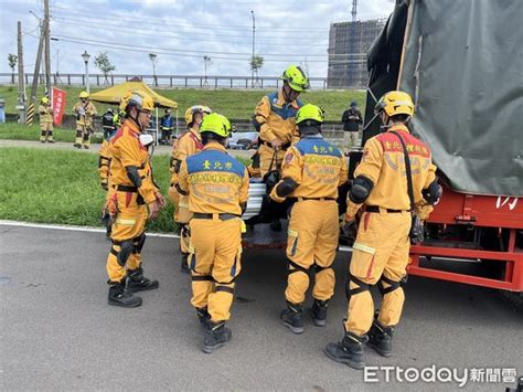
[[[65,113],[71,114],[73,105],[77,100],[81,87],[61,87],[67,92],[67,105]],[[98,88],[99,89],[99,88]],[[92,93],[98,91],[93,88]],[[223,114],[231,119],[249,119],[254,114],[256,104],[262,97],[270,93],[273,89],[264,91],[245,91],[245,89],[212,89],[212,88],[177,88],[163,89],[159,88],[158,93],[178,102],[179,116],[183,116],[189,106],[201,104],[207,105],[213,110]],[[40,88],[38,97],[43,95]],[[6,113],[17,113],[17,87],[0,86],[0,98],[6,99]],[[314,89],[301,95],[301,100],[319,105],[325,109],[327,120],[340,120],[343,110],[346,109],[349,103],[355,99],[360,107],[365,106],[365,92],[361,91],[322,91]],[[98,113],[102,115],[106,110],[105,104],[96,104]]]

